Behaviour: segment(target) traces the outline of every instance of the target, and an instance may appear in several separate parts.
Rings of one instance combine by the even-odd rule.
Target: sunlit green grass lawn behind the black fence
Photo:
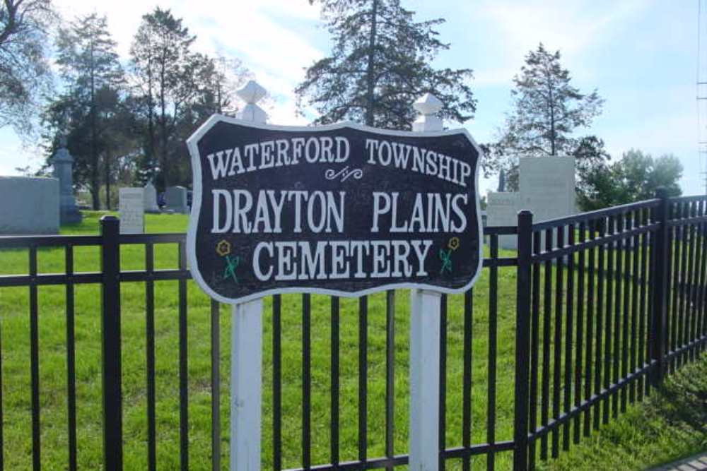
[[[96,234],[102,213],[86,212],[81,225],[62,234]],[[183,215],[147,215],[146,232],[184,232]],[[158,244],[157,269],[177,268],[176,244]],[[513,256],[513,252],[501,256]],[[143,246],[122,246],[123,270],[144,269]],[[75,270],[98,271],[97,247],[76,247]],[[38,251],[40,273],[62,273],[62,249]],[[26,250],[0,251],[0,275],[28,273]],[[144,283],[122,284],[122,368],[124,400],[124,462],[126,470],[147,463],[146,321]],[[65,287],[40,287],[40,404],[42,407],[42,466],[64,469],[68,463],[66,431]],[[78,463],[93,470],[102,464],[100,396],[100,288],[80,285],[76,297],[76,389]],[[158,469],[179,465],[178,296],[177,282],[156,282],[156,415]],[[190,468],[211,466],[210,307],[209,299],[189,281],[189,455]],[[489,359],[489,270],[474,287],[472,443],[486,442]],[[282,305],[283,466],[301,465],[302,297],[284,295]],[[312,464],[329,462],[330,311],[329,297],[312,296]],[[385,293],[369,297],[368,311],[368,456],[385,453]],[[3,441],[6,469],[31,467],[30,337],[28,288],[0,290]],[[395,314],[395,453],[407,453],[409,408],[409,292],[399,291]],[[230,310],[221,307],[222,466],[228,467],[228,379]],[[271,298],[264,307],[263,435],[264,469],[271,467],[272,330]],[[448,448],[462,445],[463,296],[450,296],[448,309],[447,429]],[[341,299],[340,314],[340,459],[358,455],[358,301]],[[496,378],[496,441],[513,437],[515,355],[515,268],[498,269],[498,359]],[[618,423],[618,422],[617,422]],[[601,436],[600,434],[596,436]],[[594,437],[594,436],[592,436]],[[592,438],[590,440],[595,440]],[[579,449],[579,448],[573,448]],[[571,452],[574,453],[574,452]],[[498,469],[510,469],[512,453],[496,456]],[[474,469],[485,469],[486,458],[475,457]],[[448,462],[450,469],[460,463]]]

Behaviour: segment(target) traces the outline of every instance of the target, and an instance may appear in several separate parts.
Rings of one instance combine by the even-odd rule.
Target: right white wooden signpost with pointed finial
[[[414,103],[421,116],[416,132],[442,131],[436,114],[442,102],[426,93]],[[439,465],[441,294],[412,290],[410,305],[410,459],[412,471],[436,471]]]

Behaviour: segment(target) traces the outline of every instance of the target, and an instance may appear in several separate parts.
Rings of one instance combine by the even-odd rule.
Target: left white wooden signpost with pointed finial
[[[249,81],[238,90],[246,102],[240,119],[264,123],[256,105],[265,89]],[[260,408],[262,407],[262,298],[235,304],[230,338],[230,470],[260,469]]]

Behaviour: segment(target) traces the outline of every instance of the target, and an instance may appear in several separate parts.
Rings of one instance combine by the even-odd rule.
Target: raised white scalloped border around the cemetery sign
[[[479,224],[479,266],[477,268],[477,273],[474,273],[472,280],[470,280],[467,285],[460,288],[446,288],[437,285],[427,285],[426,283],[414,283],[414,282],[402,282],[402,283],[392,283],[390,285],[381,285],[378,287],[367,288],[366,290],[360,291],[338,291],[338,290],[328,290],[326,288],[316,288],[316,287],[291,287],[291,288],[272,288],[270,290],[259,291],[257,293],[248,294],[247,296],[240,298],[228,298],[223,297],[211,287],[206,284],[204,278],[199,272],[199,265],[197,264],[196,258],[196,246],[197,246],[197,223],[199,222],[199,210],[201,209],[201,156],[199,155],[199,148],[197,143],[204,134],[206,134],[211,128],[216,126],[220,122],[225,122],[229,124],[238,124],[240,126],[256,128],[256,129],[267,129],[269,131],[298,131],[298,132],[318,132],[318,131],[331,131],[335,129],[356,129],[358,131],[368,131],[372,133],[385,134],[387,136],[404,136],[404,137],[437,137],[437,136],[453,136],[457,134],[464,135],[469,142],[472,143],[474,149],[477,150],[479,158],[477,158],[477,165],[474,172],[475,179],[475,189],[476,189],[476,203],[477,203],[477,222]],[[361,297],[366,294],[373,294],[377,292],[387,291],[387,290],[404,290],[404,289],[416,289],[416,290],[429,290],[434,292],[441,292],[445,294],[460,294],[466,292],[471,288],[479,275],[481,275],[481,270],[484,268],[484,228],[481,224],[481,201],[479,198],[479,167],[481,162],[481,157],[484,153],[481,148],[474,141],[472,135],[469,131],[464,128],[451,129],[448,131],[432,131],[432,132],[416,132],[416,131],[391,131],[388,129],[378,129],[370,126],[363,126],[363,124],[354,123],[351,121],[341,121],[337,124],[325,124],[322,126],[279,126],[274,124],[259,124],[252,121],[244,121],[243,119],[237,119],[232,117],[224,116],[223,114],[213,114],[209,119],[207,119],[204,124],[199,126],[197,131],[194,131],[192,136],[187,138],[187,147],[189,148],[189,155],[192,157],[192,175],[193,181],[193,197],[192,197],[192,211],[189,214],[189,229],[187,230],[187,261],[189,263],[189,271],[192,273],[192,278],[197,282],[197,285],[204,290],[209,297],[216,299],[218,302],[224,304],[239,304],[242,302],[252,301],[253,299],[259,299],[262,297],[269,296],[271,294],[291,294],[291,293],[310,293],[310,294],[327,294],[329,296],[339,296],[339,297]]]

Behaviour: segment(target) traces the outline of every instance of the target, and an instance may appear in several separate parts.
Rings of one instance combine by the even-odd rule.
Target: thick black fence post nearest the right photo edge
[[[668,199],[667,191],[664,188],[658,189],[656,198],[660,198],[660,203],[651,211],[651,220],[658,223],[658,230],[655,232],[653,244],[650,251],[653,254],[653,310],[650,322],[650,356],[658,363],[653,367],[653,374],[650,374],[651,386],[658,386],[662,382],[665,373],[665,318],[667,317],[667,290],[670,283],[670,268],[668,267],[668,256],[670,252],[670,235],[668,232]]]

